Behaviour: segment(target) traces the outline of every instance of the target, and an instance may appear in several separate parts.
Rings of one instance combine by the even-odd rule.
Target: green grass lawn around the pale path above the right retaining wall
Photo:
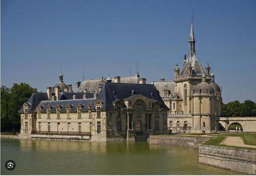
[[[227,146],[221,145],[220,143],[227,137],[227,136],[239,136],[243,138],[243,141],[247,145],[256,145],[256,134],[222,134],[222,135],[212,135],[212,138],[205,141],[204,145],[215,145],[215,146]],[[248,147],[238,147],[238,146],[228,146],[232,148],[241,148],[241,149],[253,149],[256,148],[248,148]]]

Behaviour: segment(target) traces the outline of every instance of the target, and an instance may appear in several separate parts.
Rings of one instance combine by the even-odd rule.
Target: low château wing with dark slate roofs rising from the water
[[[20,110],[20,136],[109,142],[167,133],[169,109],[153,85],[104,82],[93,98],[86,95],[34,93]]]

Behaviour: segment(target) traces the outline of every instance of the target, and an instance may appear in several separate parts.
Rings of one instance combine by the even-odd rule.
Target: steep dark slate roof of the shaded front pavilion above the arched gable
[[[169,110],[164,104],[159,91],[152,84],[121,84],[121,83],[105,83],[98,94],[97,99],[103,101],[101,109],[115,109],[113,102],[116,99],[124,102],[124,98],[132,96],[132,91],[135,90],[135,94],[141,94],[147,98],[158,100],[161,104],[161,108]]]

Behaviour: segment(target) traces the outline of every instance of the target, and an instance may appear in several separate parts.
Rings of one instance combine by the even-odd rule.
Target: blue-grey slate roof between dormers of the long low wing
[[[88,99],[66,99],[66,100],[45,100],[41,101],[38,106],[42,106],[41,112],[47,112],[47,107],[52,106],[52,109],[50,112],[56,112],[56,106],[62,105],[62,108],[60,109],[60,112],[67,112],[67,105],[72,105],[70,111],[71,112],[77,112],[77,105],[82,104],[83,107],[81,108],[81,111],[88,111],[88,105],[92,104],[94,107],[94,102],[96,98],[88,98]]]

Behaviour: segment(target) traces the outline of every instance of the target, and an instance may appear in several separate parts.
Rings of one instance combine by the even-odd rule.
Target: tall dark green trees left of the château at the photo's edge
[[[37,89],[26,83],[14,83],[11,88],[1,86],[1,132],[20,131],[18,110],[33,92],[37,92]]]

